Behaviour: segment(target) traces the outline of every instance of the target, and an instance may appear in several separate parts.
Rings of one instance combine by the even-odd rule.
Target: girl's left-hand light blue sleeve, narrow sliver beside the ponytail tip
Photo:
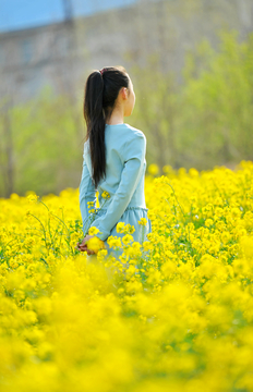
[[[86,225],[89,215],[88,215],[88,201],[94,201],[94,207],[96,206],[96,189],[93,184],[87,163],[85,159],[83,160],[83,172],[80,183],[80,209],[83,221],[83,232],[85,233],[88,225]]]

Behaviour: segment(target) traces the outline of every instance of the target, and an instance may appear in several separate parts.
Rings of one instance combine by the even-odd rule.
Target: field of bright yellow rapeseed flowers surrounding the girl
[[[76,249],[77,189],[0,199],[2,392],[253,391],[253,162],[155,173],[119,259]]]

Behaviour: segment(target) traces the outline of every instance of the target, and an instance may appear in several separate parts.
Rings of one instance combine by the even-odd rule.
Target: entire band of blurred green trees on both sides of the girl
[[[221,32],[219,50],[203,40],[185,57],[183,83],[154,53],[129,70],[136,94],[125,119],[147,137],[147,163],[198,170],[252,160],[253,34]],[[0,103],[0,196],[43,195],[79,186],[84,121],[71,96],[50,87],[13,107]]]

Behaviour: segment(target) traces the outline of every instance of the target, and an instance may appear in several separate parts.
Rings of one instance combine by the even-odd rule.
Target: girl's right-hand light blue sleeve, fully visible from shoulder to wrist
[[[145,154],[146,137],[144,134],[135,134],[130,140],[125,142],[122,148],[122,160],[124,162],[121,180],[110,205],[105,215],[97,217],[91,226],[96,226],[100,233],[96,236],[105,241],[111,229],[120,220],[136,189],[141,179]]]

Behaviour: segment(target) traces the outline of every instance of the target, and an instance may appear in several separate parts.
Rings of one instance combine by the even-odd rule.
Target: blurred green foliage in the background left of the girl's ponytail
[[[59,193],[79,183],[84,135],[76,123],[76,110],[68,96],[53,96],[50,86],[33,101],[9,109],[8,121],[2,120],[0,128],[5,152],[0,162],[2,196],[26,191]]]

